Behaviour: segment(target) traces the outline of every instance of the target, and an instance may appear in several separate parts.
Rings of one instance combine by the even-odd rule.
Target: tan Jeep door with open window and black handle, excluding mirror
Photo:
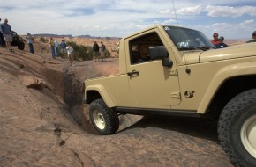
[[[169,58],[173,61],[171,68],[164,67],[162,60],[137,61],[141,44],[148,47],[168,46],[157,29],[132,36],[130,40],[126,41],[125,47],[130,49],[129,56],[126,56],[127,75],[133,98],[139,102],[139,105],[151,105],[148,107],[153,108],[159,105],[165,105],[166,108],[169,108],[170,105],[178,105],[181,99],[177,63],[174,57],[169,54]]]

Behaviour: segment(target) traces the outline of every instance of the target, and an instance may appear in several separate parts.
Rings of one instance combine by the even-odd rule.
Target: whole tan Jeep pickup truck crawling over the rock
[[[119,113],[216,119],[230,162],[256,165],[256,42],[215,49],[199,31],[154,25],[120,40],[119,74],[85,85],[99,134],[117,132]]]

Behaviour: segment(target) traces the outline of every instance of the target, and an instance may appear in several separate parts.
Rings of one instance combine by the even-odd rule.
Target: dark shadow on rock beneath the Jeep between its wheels
[[[169,131],[187,134],[193,137],[218,142],[217,123],[214,120],[199,120],[196,118],[144,116],[131,127],[126,127],[118,133],[133,133],[135,129],[147,131]]]

